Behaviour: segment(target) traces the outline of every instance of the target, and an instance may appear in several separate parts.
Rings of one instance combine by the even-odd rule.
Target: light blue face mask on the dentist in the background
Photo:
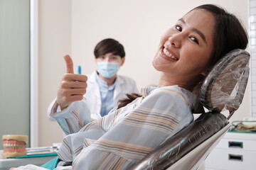
[[[119,70],[118,62],[97,62],[97,72],[107,79],[110,79],[115,74],[117,74]]]

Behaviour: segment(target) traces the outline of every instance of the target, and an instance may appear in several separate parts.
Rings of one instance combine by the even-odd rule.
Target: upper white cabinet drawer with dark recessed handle
[[[223,149],[238,149],[243,151],[255,151],[256,152],[256,141],[255,140],[232,140],[222,139],[216,146],[216,148]]]

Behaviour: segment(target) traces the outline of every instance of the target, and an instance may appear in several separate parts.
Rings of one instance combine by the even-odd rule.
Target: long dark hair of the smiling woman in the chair
[[[248,44],[248,35],[236,16],[234,16],[232,13],[228,13],[227,11],[225,11],[225,9],[219,6],[215,6],[213,4],[197,6],[191,11],[198,8],[204,9],[212,13],[215,18],[213,51],[210,55],[210,66],[213,66],[216,62],[218,62],[218,60],[221,59],[221,57],[223,57],[231,50],[235,50],[238,48],[245,50]],[[130,103],[138,96],[141,95],[127,95],[128,98],[119,101],[119,106],[125,106],[123,104],[124,102],[126,104]],[[120,108],[119,106],[118,108]]]

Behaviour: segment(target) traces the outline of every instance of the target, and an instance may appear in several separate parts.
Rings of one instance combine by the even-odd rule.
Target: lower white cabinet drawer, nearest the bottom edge
[[[215,148],[206,159],[206,169],[255,170],[256,152]]]

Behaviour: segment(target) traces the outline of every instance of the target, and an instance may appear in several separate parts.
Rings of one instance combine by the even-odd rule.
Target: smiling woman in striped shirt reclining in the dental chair
[[[154,68],[161,72],[159,86],[146,87],[141,97],[130,95],[131,103],[124,100],[126,106],[87,125],[83,124],[87,114],[84,101],[80,101],[83,107],[53,111],[51,116],[60,125],[80,129],[63,140],[57,169],[134,166],[193,121],[192,113],[198,106],[195,87],[220,57],[236,48],[245,49],[247,42],[238,19],[222,8],[203,5],[189,11],[161,38],[153,60]],[[36,169],[26,166],[32,167]]]

